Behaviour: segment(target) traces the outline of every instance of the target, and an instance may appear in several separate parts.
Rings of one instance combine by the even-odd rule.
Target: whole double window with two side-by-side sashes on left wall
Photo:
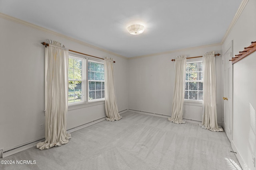
[[[69,55],[68,104],[75,105],[104,98],[104,63]]]

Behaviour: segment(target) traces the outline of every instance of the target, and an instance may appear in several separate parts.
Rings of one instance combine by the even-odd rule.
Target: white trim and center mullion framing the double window
[[[88,61],[94,61],[96,63],[100,63],[100,64],[104,64],[104,61],[102,62],[102,60],[100,59],[95,59],[93,57],[89,57],[89,56],[85,56],[85,55],[80,55],[77,53],[73,53],[71,51],[68,52],[68,56],[72,56],[74,58],[78,58],[78,59],[83,59],[84,60],[84,91],[85,91],[85,95],[84,95],[84,101],[82,102],[74,102],[74,103],[70,103],[68,104],[68,110],[74,110],[74,109],[80,109],[83,107],[90,107],[90,106],[95,106],[95,105],[100,105],[100,104],[104,104],[105,103],[105,98],[101,98],[101,99],[95,99],[95,100],[88,100],[88,96],[89,96],[89,87],[88,87]],[[104,80],[105,82],[105,80]]]

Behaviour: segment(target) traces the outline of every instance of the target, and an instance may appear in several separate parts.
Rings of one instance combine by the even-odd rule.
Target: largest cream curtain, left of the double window
[[[47,40],[45,48],[45,141],[40,150],[61,146],[71,138],[66,133],[68,111],[68,50],[57,41]]]

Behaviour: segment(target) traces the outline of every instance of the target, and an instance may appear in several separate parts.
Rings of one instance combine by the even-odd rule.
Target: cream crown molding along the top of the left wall
[[[57,33],[57,32],[52,31],[52,30],[50,30],[50,29],[46,29],[46,28],[44,28],[44,27],[40,27],[40,26],[35,25],[35,24],[33,24],[33,23],[30,23],[30,22],[27,22],[27,21],[23,21],[23,20],[20,20],[20,19],[18,19],[18,18],[14,18],[14,17],[12,17],[12,16],[8,16],[8,15],[6,15],[6,14],[4,14],[4,13],[1,13],[1,12],[0,12],[0,18],[3,18],[3,19],[6,19],[6,20],[9,20],[9,21],[16,22],[16,23],[25,25],[25,26],[27,26],[27,27],[31,27],[31,28],[34,28],[34,29],[38,29],[38,30],[40,30],[40,31],[44,31],[44,32],[47,32],[47,33],[51,33],[51,34],[53,34],[53,35],[57,35],[57,36],[59,36],[59,37],[68,39],[68,40],[70,40],[70,41],[73,41],[73,42],[75,42],[75,43],[79,43],[79,44],[82,44],[82,45],[85,45],[85,46],[88,46],[88,47],[92,47],[92,48],[94,48],[94,49],[103,51],[103,52],[108,53],[108,54],[111,54],[111,55],[115,55],[115,56],[118,56],[118,57],[121,57],[121,58],[124,58],[124,59],[128,59],[127,57],[124,57],[124,56],[122,56],[122,55],[113,53],[113,52],[111,52],[111,51],[104,50],[104,49],[99,48],[99,47],[96,47],[96,46],[94,46],[94,45],[90,45],[90,44],[85,43],[85,42],[83,42],[83,41],[80,41],[80,40],[78,40],[78,39],[74,39],[74,38],[68,37],[68,36],[63,35],[63,34],[61,34],[61,33]]]

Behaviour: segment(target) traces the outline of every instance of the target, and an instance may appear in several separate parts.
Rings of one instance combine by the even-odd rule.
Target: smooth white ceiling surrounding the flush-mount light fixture
[[[0,0],[0,12],[137,57],[220,43],[242,0]],[[130,35],[140,23],[144,33]],[[68,48],[68,47],[67,47]]]

